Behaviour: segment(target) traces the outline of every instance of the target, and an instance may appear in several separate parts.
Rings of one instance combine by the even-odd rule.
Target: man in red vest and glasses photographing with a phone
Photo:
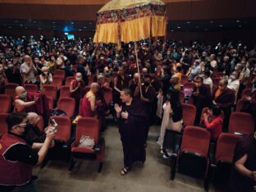
[[[26,113],[11,113],[7,117],[8,133],[0,139],[0,191],[36,191],[31,180],[32,168],[43,162],[56,130],[46,131],[43,144],[28,144]],[[38,152],[35,152],[38,151]]]

